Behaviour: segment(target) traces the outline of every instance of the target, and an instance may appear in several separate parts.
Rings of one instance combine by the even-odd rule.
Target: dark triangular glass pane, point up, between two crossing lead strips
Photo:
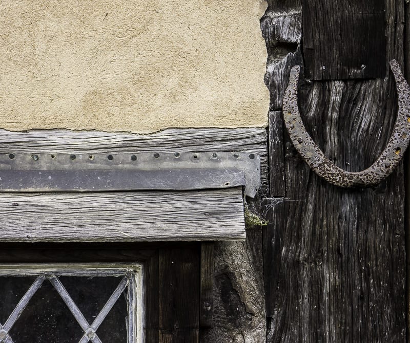
[[[48,280],[34,294],[10,330],[14,343],[77,343],[83,333]]]

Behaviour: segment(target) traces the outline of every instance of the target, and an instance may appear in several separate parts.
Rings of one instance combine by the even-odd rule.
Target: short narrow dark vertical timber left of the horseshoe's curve
[[[269,187],[271,197],[285,197],[283,119],[280,111],[269,112]]]

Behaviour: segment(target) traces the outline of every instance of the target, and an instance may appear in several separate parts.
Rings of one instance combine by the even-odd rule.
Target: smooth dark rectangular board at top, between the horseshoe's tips
[[[386,76],[384,0],[310,0],[302,9],[307,78]]]

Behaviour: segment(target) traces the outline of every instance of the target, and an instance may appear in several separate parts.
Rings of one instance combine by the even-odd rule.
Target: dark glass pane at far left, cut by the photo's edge
[[[6,323],[11,312],[13,312],[35,279],[35,276],[18,278],[0,276],[0,324]]]

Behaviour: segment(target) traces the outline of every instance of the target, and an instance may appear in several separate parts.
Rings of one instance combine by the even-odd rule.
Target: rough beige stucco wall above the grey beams
[[[0,2],[0,127],[262,126],[263,0]]]

